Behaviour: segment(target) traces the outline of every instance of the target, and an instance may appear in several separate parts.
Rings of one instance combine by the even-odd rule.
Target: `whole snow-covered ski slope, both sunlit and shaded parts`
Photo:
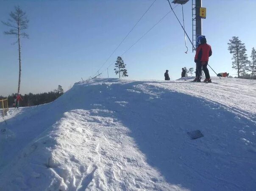
[[[95,79],[10,109],[0,191],[255,190],[256,80],[213,82]]]

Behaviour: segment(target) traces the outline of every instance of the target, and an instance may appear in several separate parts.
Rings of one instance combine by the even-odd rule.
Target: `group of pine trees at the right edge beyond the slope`
[[[228,50],[233,55],[232,68],[237,70],[237,78],[256,80],[256,50],[253,47],[250,60],[246,54],[245,43],[239,40],[238,36],[233,36],[229,40]]]

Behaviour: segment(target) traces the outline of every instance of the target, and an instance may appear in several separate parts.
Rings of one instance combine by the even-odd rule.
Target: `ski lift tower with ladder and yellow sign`
[[[184,5],[189,0],[173,0],[172,3]],[[202,18],[206,18],[206,8],[202,8],[202,0],[192,0],[192,51],[197,47],[197,38],[202,35]]]

